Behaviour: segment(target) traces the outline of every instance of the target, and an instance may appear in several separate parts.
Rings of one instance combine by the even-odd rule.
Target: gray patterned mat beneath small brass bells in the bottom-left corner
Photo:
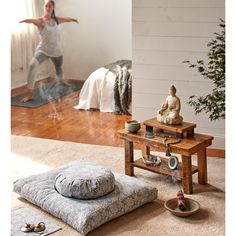
[[[38,224],[39,222],[44,222],[46,226],[46,229],[43,232],[40,232],[40,234],[34,232],[24,233],[20,230],[25,223]],[[46,236],[60,229],[61,227],[54,223],[51,223],[50,221],[43,218],[41,215],[37,214],[29,208],[19,207],[11,211],[11,236]]]

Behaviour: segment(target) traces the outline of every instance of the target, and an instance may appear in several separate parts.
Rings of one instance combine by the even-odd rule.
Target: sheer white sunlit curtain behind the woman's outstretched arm
[[[35,25],[19,23],[27,18],[38,18],[38,0],[14,0],[11,8],[11,70],[25,70],[38,42]]]

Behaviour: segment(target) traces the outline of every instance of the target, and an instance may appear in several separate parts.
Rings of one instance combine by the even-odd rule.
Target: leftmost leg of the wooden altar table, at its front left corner
[[[125,140],[125,174],[133,176],[134,167],[132,162],[134,161],[134,144]]]

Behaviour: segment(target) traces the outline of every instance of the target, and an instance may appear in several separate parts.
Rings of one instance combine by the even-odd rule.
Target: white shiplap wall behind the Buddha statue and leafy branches
[[[133,0],[132,4],[133,118],[156,116],[174,84],[184,120],[196,123],[196,132],[213,135],[214,148],[224,149],[224,120],[211,122],[206,114],[195,115],[187,104],[190,95],[210,93],[212,83],[182,63],[207,58],[206,45],[221,30],[224,0]]]

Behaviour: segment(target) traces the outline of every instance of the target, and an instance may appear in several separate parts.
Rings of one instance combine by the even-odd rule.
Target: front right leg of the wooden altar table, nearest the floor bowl
[[[193,193],[192,158],[182,155],[182,183],[184,193]]]

